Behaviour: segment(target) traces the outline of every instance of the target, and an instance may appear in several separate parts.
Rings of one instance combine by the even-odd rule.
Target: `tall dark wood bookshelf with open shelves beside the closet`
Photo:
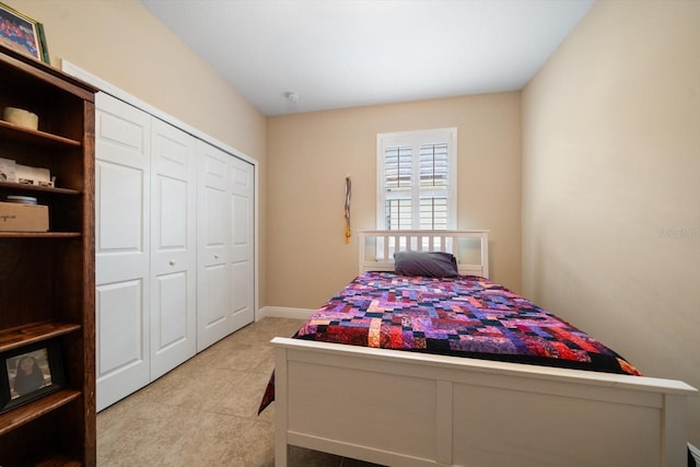
[[[55,187],[0,182],[0,201],[11,195],[30,196],[47,206],[49,215],[48,232],[0,232],[0,366],[8,374],[3,384],[13,384],[10,363],[22,349],[43,341],[59,349],[65,373],[60,384],[51,382],[55,390],[26,399],[15,396],[1,407],[0,466],[96,464],[96,91],[0,45],[0,118],[4,107],[38,116],[36,129],[0,119],[0,157],[48,168],[56,176]]]

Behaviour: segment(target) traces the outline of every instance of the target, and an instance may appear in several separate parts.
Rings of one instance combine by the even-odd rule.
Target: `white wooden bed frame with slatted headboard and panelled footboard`
[[[360,233],[360,270],[393,270],[365,253],[376,249],[368,238],[384,238],[381,246],[397,235],[427,233]],[[488,277],[488,231],[430,235],[453,245],[478,238],[480,264],[459,269]],[[277,467],[288,465],[289,445],[401,467],[687,463],[686,398],[697,389],[679,381],[280,337],[272,345]]]

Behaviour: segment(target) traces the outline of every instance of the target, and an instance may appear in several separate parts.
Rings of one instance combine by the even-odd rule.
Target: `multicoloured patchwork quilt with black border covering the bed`
[[[640,375],[627,360],[533,302],[475,276],[365,272],[296,339]],[[275,375],[260,411],[273,398]]]

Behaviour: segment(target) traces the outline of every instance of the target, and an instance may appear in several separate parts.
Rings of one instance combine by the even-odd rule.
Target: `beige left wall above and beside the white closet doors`
[[[66,59],[256,159],[265,184],[266,118],[136,0],[3,0],[44,24],[51,63]],[[265,190],[260,190],[265,243]],[[260,277],[265,250],[260,248]],[[260,281],[265,305],[265,281]]]

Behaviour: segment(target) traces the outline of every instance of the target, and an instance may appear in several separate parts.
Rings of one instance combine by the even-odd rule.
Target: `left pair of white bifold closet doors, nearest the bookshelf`
[[[196,353],[195,142],[97,94],[97,410]]]

